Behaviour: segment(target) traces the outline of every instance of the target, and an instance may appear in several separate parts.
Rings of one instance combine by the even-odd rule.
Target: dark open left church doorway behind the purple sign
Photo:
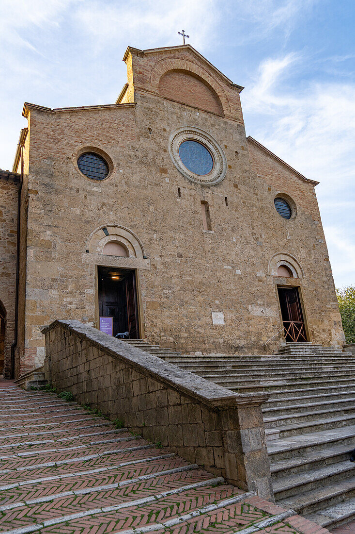
[[[99,315],[112,317],[114,336],[128,332],[139,339],[138,301],[135,271],[98,267]]]

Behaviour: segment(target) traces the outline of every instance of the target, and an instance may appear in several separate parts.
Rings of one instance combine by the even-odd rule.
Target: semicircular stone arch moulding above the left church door
[[[87,239],[86,252],[105,255],[104,248],[109,243],[120,245],[125,249],[126,257],[143,259],[146,256],[140,239],[131,230],[118,224],[107,224],[96,228]]]

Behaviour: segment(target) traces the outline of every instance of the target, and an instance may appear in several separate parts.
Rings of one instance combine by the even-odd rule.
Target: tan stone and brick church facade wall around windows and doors
[[[343,342],[313,185],[251,146],[235,88],[187,49],[163,56],[127,58],[135,106],[30,111],[23,368],[43,363],[44,324],[58,317],[94,323],[95,265],[83,255],[88,236],[108,224],[134,232],[150,260],[138,273],[141,326],[150,341],[184,352],[276,350],[280,337],[264,345],[281,328],[276,284],[291,282],[271,276],[269,261],[286,252],[304,270],[299,285],[310,340]],[[177,62],[205,73],[224,117],[159,96],[159,75]],[[183,125],[221,145],[228,164],[221,183],[193,184],[175,168],[168,140]],[[110,156],[109,178],[95,182],[77,171],[83,147]],[[293,221],[275,210],[279,191],[297,205]],[[208,202],[212,231],[203,229],[201,201]],[[213,325],[212,312],[223,312],[225,324]]]

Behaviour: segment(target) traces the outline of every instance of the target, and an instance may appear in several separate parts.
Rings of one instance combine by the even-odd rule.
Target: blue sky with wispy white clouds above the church
[[[188,42],[235,83],[247,134],[318,180],[335,284],[355,285],[353,0],[2,0],[0,167],[23,102],[113,103],[127,45]]]

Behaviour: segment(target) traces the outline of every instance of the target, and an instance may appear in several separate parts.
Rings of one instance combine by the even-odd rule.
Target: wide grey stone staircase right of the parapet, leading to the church
[[[263,406],[277,504],[326,528],[355,517],[355,361],[340,349],[289,343],[271,356],[167,355]]]

